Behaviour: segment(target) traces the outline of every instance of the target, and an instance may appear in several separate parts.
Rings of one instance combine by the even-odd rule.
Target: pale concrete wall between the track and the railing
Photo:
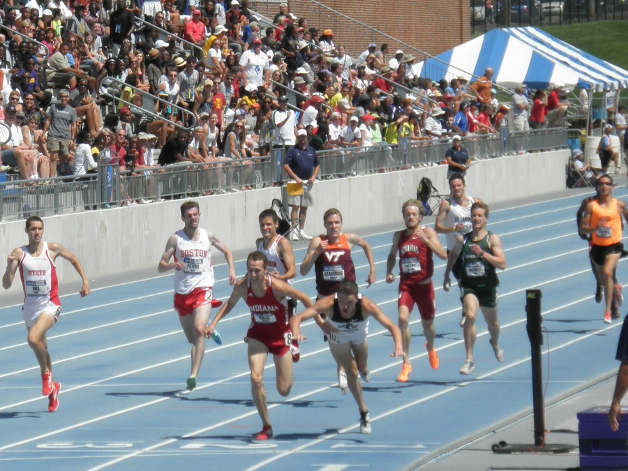
[[[529,197],[565,188],[569,151],[480,160],[467,175],[468,191],[488,204],[524,202]],[[308,234],[323,231],[322,214],[330,207],[343,213],[347,230],[364,234],[369,227],[401,225],[401,204],[416,197],[422,177],[429,177],[447,193],[447,167],[425,167],[403,172],[374,174],[317,182],[316,206],[309,209]],[[541,177],[541,178],[539,178]],[[257,215],[281,198],[281,188],[200,197],[201,225],[214,232],[235,253],[252,250],[259,237]],[[81,260],[90,280],[121,271],[156,267],[168,237],[182,227],[182,200],[137,207],[86,211],[44,218],[45,240],[57,241]],[[24,220],[0,224],[2,253],[27,241]],[[6,256],[5,255],[5,256]],[[222,254],[214,253],[218,263]],[[68,263],[58,264],[59,281],[77,279]],[[241,274],[239,274],[241,275]],[[11,290],[20,290],[15,280]]]

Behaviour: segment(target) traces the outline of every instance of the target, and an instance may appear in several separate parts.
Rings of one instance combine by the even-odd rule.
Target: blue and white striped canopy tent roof
[[[459,76],[473,82],[487,67],[495,70],[493,82],[505,88],[518,83],[531,89],[549,88],[557,82],[592,91],[628,88],[627,70],[534,27],[493,29],[435,59],[414,64],[414,72],[435,82]]]

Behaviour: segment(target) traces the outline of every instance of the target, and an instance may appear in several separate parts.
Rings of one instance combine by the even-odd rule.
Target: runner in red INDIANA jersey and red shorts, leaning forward
[[[308,308],[312,302],[307,294],[268,274],[268,260],[264,253],[255,251],[246,259],[246,277],[233,288],[229,300],[220,308],[214,320],[205,329],[209,338],[216,324],[229,314],[240,299],[251,311],[251,325],[246,332],[248,364],[251,367],[251,393],[257,412],[262,419],[262,431],[256,440],[268,440],[273,436],[266,389],[264,388],[264,366],[269,353],[273,355],[277,377],[277,391],[285,397],[292,389],[292,333],[287,298],[297,299]],[[322,320],[317,322],[322,324]]]

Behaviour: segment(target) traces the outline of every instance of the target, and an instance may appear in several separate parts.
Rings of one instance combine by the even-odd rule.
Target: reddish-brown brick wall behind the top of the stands
[[[393,53],[401,49],[421,60],[419,52],[409,50],[368,27],[433,55],[470,39],[468,0],[321,0],[320,3],[357,22],[336,15],[313,1],[287,0],[288,11],[297,17],[307,18],[308,27],[316,27],[320,31],[332,29],[334,43],[344,44],[352,57],[366,50],[372,41],[377,45],[388,43]],[[251,8],[270,18],[278,13],[278,5],[274,1],[251,0]]]

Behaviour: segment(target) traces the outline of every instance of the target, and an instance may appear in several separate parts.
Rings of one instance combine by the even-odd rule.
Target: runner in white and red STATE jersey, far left
[[[22,319],[28,330],[29,347],[35,353],[39,363],[42,394],[48,397],[48,412],[54,412],[59,407],[61,383],[54,381],[52,377],[52,360],[46,340],[46,332],[57,322],[61,313],[57,265],[54,261],[57,257],[61,257],[72,264],[82,279],[81,297],[89,294],[89,283],[77,257],[61,244],[56,242],[47,244],[42,241],[43,220],[37,216],[31,216],[26,221],[25,232],[29,243],[14,248],[7,257],[2,287],[5,290],[11,287],[19,269],[24,289]]]

